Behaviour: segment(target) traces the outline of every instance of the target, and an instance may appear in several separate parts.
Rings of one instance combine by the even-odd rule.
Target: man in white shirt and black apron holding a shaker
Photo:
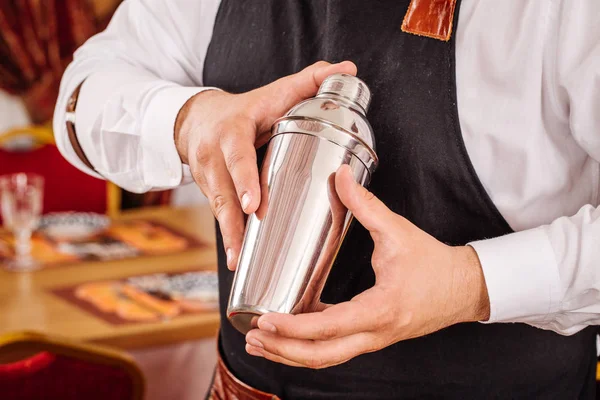
[[[590,399],[598,20],[596,0],[129,0],[65,74],[57,142],[129,190],[194,180],[209,198],[215,398]],[[226,266],[261,200],[255,145],[326,76],[357,67],[380,167],[372,194],[336,175],[361,225],[322,296],[335,305],[264,315],[244,340],[224,317]]]

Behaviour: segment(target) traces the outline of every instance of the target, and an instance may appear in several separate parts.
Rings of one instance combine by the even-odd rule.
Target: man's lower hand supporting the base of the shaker
[[[335,187],[375,242],[375,286],[319,312],[261,316],[258,329],[246,335],[249,354],[326,368],[456,323],[489,318],[475,250],[441,243],[393,213],[357,184],[347,167],[337,172]]]

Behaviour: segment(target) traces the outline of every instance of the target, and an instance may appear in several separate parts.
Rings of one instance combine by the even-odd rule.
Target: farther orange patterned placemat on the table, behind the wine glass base
[[[163,223],[137,219],[113,222],[98,234],[76,239],[60,240],[38,231],[32,237],[31,254],[42,267],[55,267],[82,261],[172,254],[205,246],[196,238]],[[0,264],[13,257],[12,234],[0,232]]]

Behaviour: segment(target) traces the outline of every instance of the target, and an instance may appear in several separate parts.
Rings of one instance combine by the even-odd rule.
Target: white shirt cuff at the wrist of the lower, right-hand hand
[[[481,262],[493,322],[543,323],[560,301],[560,276],[544,228],[469,243]]]

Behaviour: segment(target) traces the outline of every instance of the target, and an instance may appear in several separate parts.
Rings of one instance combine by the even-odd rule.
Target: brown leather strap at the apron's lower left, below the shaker
[[[246,385],[236,378],[225,365],[219,354],[212,388],[208,399],[210,400],[279,400],[274,394],[262,392]]]

